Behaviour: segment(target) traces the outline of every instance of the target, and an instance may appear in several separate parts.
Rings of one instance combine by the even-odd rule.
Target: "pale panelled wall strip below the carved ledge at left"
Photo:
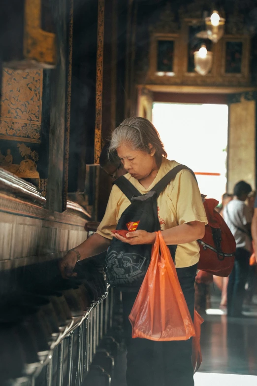
[[[56,259],[87,238],[84,224],[76,226],[4,212],[0,212],[0,218],[0,270]]]

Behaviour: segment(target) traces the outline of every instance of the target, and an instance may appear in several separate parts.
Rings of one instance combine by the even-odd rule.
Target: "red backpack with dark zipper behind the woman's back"
[[[176,174],[187,169],[195,177],[193,171],[185,165],[176,166],[174,172],[175,169]],[[197,269],[212,275],[226,277],[234,266],[236,243],[223,217],[215,211],[218,204],[219,202],[214,198],[207,198],[203,203],[208,224],[205,226],[204,237],[197,240],[200,246]]]

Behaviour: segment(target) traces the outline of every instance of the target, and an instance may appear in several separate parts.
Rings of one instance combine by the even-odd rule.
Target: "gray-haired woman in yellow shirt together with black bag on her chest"
[[[193,386],[192,339],[133,339],[128,316],[150,263],[156,231],[161,230],[193,319],[197,240],[207,224],[197,182],[191,171],[181,170],[186,167],[167,160],[160,136],[147,119],[123,121],[112,134],[110,150],[117,151],[128,174],[115,180],[96,234],[60,260],[61,272],[63,277],[75,275],[78,260],[108,248],[108,281],[123,296],[127,385]]]

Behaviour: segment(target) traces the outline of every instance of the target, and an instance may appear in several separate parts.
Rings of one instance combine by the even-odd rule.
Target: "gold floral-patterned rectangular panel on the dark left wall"
[[[40,143],[42,70],[3,69],[0,139]]]

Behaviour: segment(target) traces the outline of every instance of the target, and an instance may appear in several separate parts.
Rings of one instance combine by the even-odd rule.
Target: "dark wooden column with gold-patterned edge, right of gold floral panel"
[[[72,0],[53,4],[56,26],[57,65],[51,72],[49,173],[47,207],[64,211],[67,199],[67,166],[70,114]]]

